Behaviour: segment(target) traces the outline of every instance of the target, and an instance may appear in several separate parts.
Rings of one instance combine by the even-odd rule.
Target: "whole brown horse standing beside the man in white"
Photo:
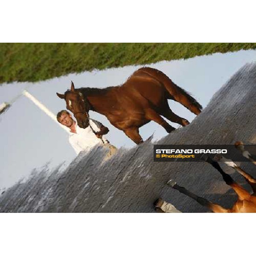
[[[143,142],[139,128],[151,120],[162,125],[168,133],[175,130],[161,116],[182,126],[189,124],[188,120],[171,111],[168,99],[180,102],[196,115],[202,110],[188,92],[160,70],[150,67],[135,71],[120,86],[75,89],[72,82],[71,90],[57,95],[65,99],[67,109],[73,112],[81,128],[88,126],[88,111],[96,111],[105,115],[113,126],[124,131],[137,144]]]

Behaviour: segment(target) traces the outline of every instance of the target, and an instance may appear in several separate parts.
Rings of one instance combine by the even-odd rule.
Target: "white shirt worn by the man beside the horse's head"
[[[100,131],[101,123],[97,122],[96,120],[89,119],[90,125],[94,131]],[[102,136],[102,139],[105,143],[108,141]],[[80,151],[89,151],[90,148],[93,148],[97,144],[102,144],[102,140],[97,138],[96,135],[93,133],[90,126],[83,129],[80,128],[76,123],[76,133],[70,131],[69,142],[76,151],[76,154],[79,154]]]

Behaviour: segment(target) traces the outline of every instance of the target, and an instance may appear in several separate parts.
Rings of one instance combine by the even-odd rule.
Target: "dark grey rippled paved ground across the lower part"
[[[207,87],[205,87],[207,92]],[[158,144],[251,144],[256,136],[256,64],[241,68],[215,95],[194,121],[164,137]],[[125,135],[124,135],[125,136]],[[47,166],[0,195],[0,212],[154,212],[162,197],[182,212],[209,212],[197,202],[170,189],[172,178],[197,195],[231,207],[236,194],[207,163],[153,162],[150,141],[102,163],[105,151],[79,156],[63,172]],[[256,177],[252,163],[239,165]],[[244,184],[233,169],[223,169]]]

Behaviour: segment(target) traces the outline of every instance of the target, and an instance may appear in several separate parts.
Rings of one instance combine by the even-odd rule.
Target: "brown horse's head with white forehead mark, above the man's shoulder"
[[[90,110],[90,104],[79,89],[75,90],[73,82],[71,81],[70,90],[67,90],[64,94],[56,94],[59,98],[65,99],[66,108],[74,114],[79,127],[87,128],[89,125],[88,111]]]

